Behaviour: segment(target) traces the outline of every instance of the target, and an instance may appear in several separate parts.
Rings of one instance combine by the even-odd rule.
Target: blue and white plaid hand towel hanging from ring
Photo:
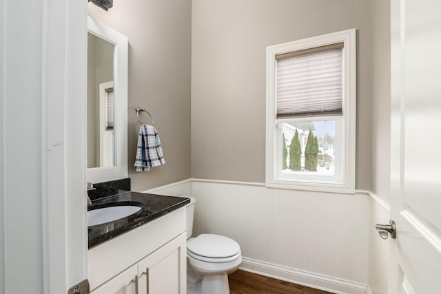
[[[152,125],[141,125],[134,167],[136,171],[148,171],[150,167],[164,165],[163,149],[158,132]]]

